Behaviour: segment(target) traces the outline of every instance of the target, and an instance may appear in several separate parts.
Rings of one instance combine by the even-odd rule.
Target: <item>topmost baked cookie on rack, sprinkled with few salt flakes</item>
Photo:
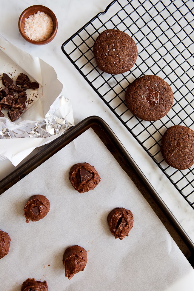
[[[138,56],[135,41],[116,29],[104,30],[97,37],[93,51],[98,68],[115,75],[129,71]]]

